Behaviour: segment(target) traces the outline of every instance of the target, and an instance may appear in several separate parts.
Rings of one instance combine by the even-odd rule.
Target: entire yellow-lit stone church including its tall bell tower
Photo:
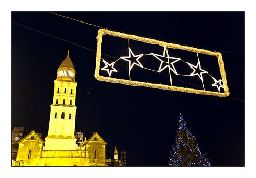
[[[20,139],[17,142],[16,159],[12,158],[12,166],[126,165],[126,152],[125,157],[122,156],[118,160],[116,148],[113,160],[106,159],[107,143],[97,132],[84,141],[83,138],[78,140],[75,137],[77,86],[75,73],[68,50],[68,55],[60,64],[57,78],[54,80],[48,135],[43,140],[41,134],[32,130],[27,136]],[[82,142],[78,144],[78,141]],[[115,165],[111,162],[115,162]]]

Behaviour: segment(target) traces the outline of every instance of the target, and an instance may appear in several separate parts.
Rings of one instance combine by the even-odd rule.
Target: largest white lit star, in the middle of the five
[[[153,55],[155,58],[157,58],[159,61],[161,61],[160,65],[159,65],[158,72],[162,72],[164,69],[169,68],[176,75],[178,75],[178,73],[177,73],[177,71],[176,71],[176,69],[174,67],[174,63],[179,61],[179,60],[181,60],[181,59],[177,58],[177,57],[170,57],[169,53],[168,53],[168,49],[166,47],[164,47],[163,55],[159,55],[159,54],[155,54],[155,53],[150,53],[150,55]],[[174,61],[173,62],[169,62],[167,64],[164,64],[164,63],[166,63],[166,61],[163,61],[160,58],[165,58],[165,59],[167,59],[167,61],[169,61],[168,59],[174,59]]]

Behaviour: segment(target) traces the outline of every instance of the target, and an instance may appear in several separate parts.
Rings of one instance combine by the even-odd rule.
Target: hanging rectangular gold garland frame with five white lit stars
[[[105,63],[107,61],[103,60],[102,57],[101,57],[101,44],[102,44],[103,35],[109,35],[109,36],[113,36],[113,37],[124,38],[124,39],[128,39],[128,41],[129,40],[135,40],[135,41],[140,41],[140,42],[147,43],[147,44],[155,44],[156,46],[163,47],[164,51],[163,51],[163,54],[148,53],[148,54],[136,54],[135,55],[133,53],[133,51],[131,50],[131,48],[129,46],[129,42],[128,42],[129,55],[128,56],[120,55],[120,57],[118,56],[116,58],[117,60],[114,63],[112,62],[110,64],[112,66],[113,71],[111,71],[111,70],[108,71],[108,70],[106,70],[107,68],[106,68],[106,63]],[[99,81],[105,81],[105,82],[111,82],[111,83],[120,83],[120,84],[131,85],[131,86],[144,86],[144,87],[158,88],[158,89],[161,89],[161,90],[179,91],[179,92],[194,93],[194,94],[201,94],[201,95],[214,95],[214,96],[219,96],[219,97],[229,96],[229,89],[228,89],[227,80],[226,80],[226,72],[225,72],[225,69],[224,69],[224,63],[223,63],[223,60],[222,60],[222,55],[219,52],[212,52],[212,51],[209,51],[209,50],[198,49],[198,48],[188,47],[188,46],[182,46],[180,44],[168,43],[168,42],[159,41],[159,40],[150,39],[150,38],[145,38],[145,37],[140,37],[140,36],[136,36],[136,35],[114,32],[114,31],[111,31],[111,30],[108,30],[108,29],[99,29],[98,30],[97,41],[98,42],[97,42],[97,52],[96,52],[96,67],[95,67],[94,76]],[[202,69],[199,58],[198,58],[198,63],[196,65],[193,65],[192,63],[186,62],[181,58],[170,56],[169,53],[168,53],[168,48],[173,49],[173,50],[174,49],[179,49],[179,50],[185,50],[185,51],[188,51],[188,52],[194,52],[194,53],[197,54],[197,56],[198,56],[198,54],[204,54],[204,55],[217,57],[221,79],[218,82],[216,82],[214,77],[212,77],[206,70]],[[143,70],[154,71],[153,69],[145,68],[142,65],[142,63],[140,62],[140,60],[142,58],[146,59],[147,56],[153,56],[155,59],[160,61],[160,65],[158,67],[158,70],[155,71],[155,72],[161,73],[165,69],[169,69],[170,85],[161,84],[161,83],[151,83],[151,82],[142,82],[142,81],[131,80],[130,73],[132,72],[132,69],[135,67],[135,65],[137,65],[138,67],[140,67]],[[111,72],[117,72],[117,71],[114,70],[115,69],[114,68],[115,63],[120,61],[120,60],[125,60],[125,61],[128,62],[129,80],[123,79],[123,78],[113,78],[113,77],[111,77]],[[203,90],[199,90],[199,89],[195,89],[195,88],[189,88],[189,87],[173,86],[172,75],[171,74],[174,73],[176,76],[181,76],[182,75],[182,74],[179,74],[177,72],[177,69],[175,68],[175,65],[180,61],[185,62],[189,66],[189,68],[193,70],[190,73],[190,75],[185,75],[185,76],[187,76],[187,77],[198,76],[199,79],[202,81]],[[106,72],[108,72],[109,77],[99,75],[101,62],[103,62],[105,64],[105,66],[101,69],[106,70]],[[211,86],[216,86],[218,92],[205,90],[204,83],[203,83],[204,82],[204,77],[203,77],[204,75],[203,74],[204,75],[208,74],[208,76],[210,76],[212,78],[212,80],[214,80],[215,83],[212,84]],[[182,76],[184,76],[184,75],[182,75]],[[221,81],[222,81],[223,85],[220,84]],[[217,83],[219,83],[219,85],[217,85]],[[221,92],[220,88],[223,88],[224,92]]]

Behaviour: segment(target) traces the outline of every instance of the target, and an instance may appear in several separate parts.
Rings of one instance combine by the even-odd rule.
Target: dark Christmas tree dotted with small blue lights
[[[175,138],[176,145],[172,145],[170,151],[170,166],[211,166],[206,155],[201,154],[196,137],[187,129],[186,122],[180,114],[179,128]]]

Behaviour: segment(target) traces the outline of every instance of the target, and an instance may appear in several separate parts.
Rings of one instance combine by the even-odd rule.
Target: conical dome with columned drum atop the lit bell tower
[[[75,82],[75,68],[69,57],[69,50],[67,57],[59,65],[57,72],[57,80],[68,80]]]

